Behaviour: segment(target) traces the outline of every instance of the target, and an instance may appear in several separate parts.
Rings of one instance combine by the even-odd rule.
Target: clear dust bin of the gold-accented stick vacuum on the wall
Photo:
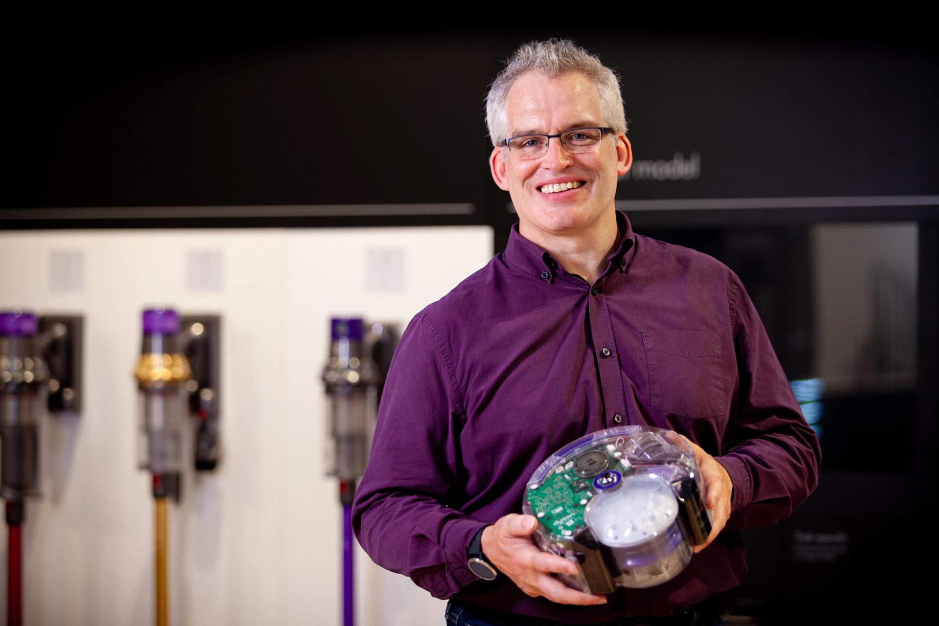
[[[182,429],[188,415],[182,388],[140,389],[138,462],[154,474],[179,474],[183,467]]]

